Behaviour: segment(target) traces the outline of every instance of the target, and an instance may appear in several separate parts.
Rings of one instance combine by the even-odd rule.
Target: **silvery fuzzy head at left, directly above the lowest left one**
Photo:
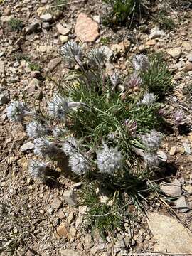
[[[39,156],[48,156],[52,158],[56,154],[58,154],[58,147],[53,145],[52,142],[49,142],[46,138],[38,138],[34,139],[34,153],[38,154]]]

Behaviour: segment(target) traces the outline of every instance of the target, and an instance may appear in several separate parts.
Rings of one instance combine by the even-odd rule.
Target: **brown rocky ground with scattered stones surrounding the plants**
[[[176,23],[172,31],[159,30],[154,21],[146,20],[137,29],[113,31],[102,26],[105,15],[102,1],[54,5],[55,1],[49,0],[7,0],[4,4],[0,1],[0,203],[1,215],[6,215],[6,221],[4,218],[1,221],[4,225],[0,224],[1,239],[9,238],[8,247],[14,247],[17,242],[15,255],[27,256],[107,256],[122,255],[122,250],[192,253],[189,247],[192,242],[189,231],[192,230],[192,12],[183,9],[181,14],[169,10]],[[22,21],[21,31],[11,31],[8,25],[11,17]],[[168,159],[160,178],[170,177],[161,186],[167,196],[180,197],[166,204],[162,197],[156,196],[147,207],[148,220],[137,212],[131,225],[125,223],[126,232],[109,235],[107,240],[86,229],[86,207],[78,206],[76,198],[80,183],[75,184],[64,176],[53,186],[33,181],[27,168],[28,159],[33,156],[33,144],[23,126],[9,122],[6,117],[11,100],[25,99],[33,106],[53,95],[57,90],[54,80],[62,80],[69,72],[59,48],[76,39],[85,42],[86,48],[107,45],[107,53],[114,58],[113,64],[107,63],[109,72],[118,68],[127,75],[132,55],[161,51],[174,75],[174,92],[164,102],[171,129],[162,145]],[[188,129],[184,132],[174,125],[176,110],[183,110],[188,119]],[[127,210],[134,211],[132,207]]]

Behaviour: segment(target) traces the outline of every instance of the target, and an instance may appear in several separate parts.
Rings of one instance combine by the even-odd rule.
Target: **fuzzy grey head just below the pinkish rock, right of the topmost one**
[[[89,65],[94,67],[95,65],[98,67],[102,67],[107,59],[104,50],[101,48],[91,49],[88,53]]]

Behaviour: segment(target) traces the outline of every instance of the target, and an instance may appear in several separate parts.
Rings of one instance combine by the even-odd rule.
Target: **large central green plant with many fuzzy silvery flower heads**
[[[124,78],[117,70],[107,75],[102,48],[86,53],[70,41],[60,53],[73,69],[74,81],[58,86],[46,112],[12,102],[7,115],[16,122],[26,116],[34,119],[26,132],[43,161],[31,161],[31,176],[44,182],[46,161],[65,162],[63,171],[68,168],[90,188],[82,196],[88,222],[107,235],[107,230],[122,226],[124,206],[132,202],[140,207],[139,200],[149,191],[147,180],[163,161],[158,153],[163,138],[158,100],[170,89],[171,75],[159,56],[135,55],[133,72]],[[106,203],[97,189],[104,195],[101,191],[107,191]]]

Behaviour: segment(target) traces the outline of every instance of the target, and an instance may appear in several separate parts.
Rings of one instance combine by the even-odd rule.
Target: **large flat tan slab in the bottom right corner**
[[[156,252],[192,253],[192,234],[178,220],[158,213],[149,213],[148,218],[149,228],[157,242],[154,245]]]

